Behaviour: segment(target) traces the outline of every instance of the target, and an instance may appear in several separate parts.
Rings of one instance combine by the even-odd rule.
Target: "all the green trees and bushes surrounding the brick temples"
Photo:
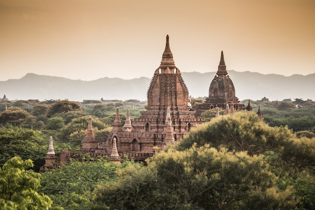
[[[85,157],[40,175],[34,171],[44,163],[49,135],[56,153],[76,150],[90,115],[102,138],[117,106],[123,121],[126,109],[139,117],[144,102],[2,102],[0,109],[8,109],[0,112],[0,208],[21,209],[9,195],[22,196],[22,182],[25,195],[37,199],[23,205],[42,203],[37,209],[314,209],[315,102],[263,98],[251,104],[253,112],[223,116],[220,110],[218,119],[214,110],[205,112],[204,124],[146,166]],[[259,105],[265,123],[256,115]],[[20,182],[8,188],[10,177]]]

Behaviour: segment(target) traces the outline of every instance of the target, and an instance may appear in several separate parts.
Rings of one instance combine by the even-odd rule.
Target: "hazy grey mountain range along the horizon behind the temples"
[[[182,77],[194,97],[207,97],[209,86],[216,72],[182,72]],[[228,71],[236,96],[245,99],[260,100],[267,97],[271,101],[301,98],[315,100],[315,74],[307,76],[263,75],[252,72]],[[152,75],[153,76],[153,75]],[[94,81],[70,80],[61,77],[27,74],[18,80],[0,81],[0,97],[6,95],[9,100],[68,99],[83,100],[146,100],[146,91],[150,78],[123,80],[119,78],[101,78]]]

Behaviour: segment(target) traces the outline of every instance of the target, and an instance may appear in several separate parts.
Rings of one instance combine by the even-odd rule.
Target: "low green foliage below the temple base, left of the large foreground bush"
[[[95,204],[92,191],[97,185],[116,181],[120,165],[103,159],[85,162],[70,161],[58,169],[42,174],[40,192],[49,195],[54,206],[65,209],[91,209]]]

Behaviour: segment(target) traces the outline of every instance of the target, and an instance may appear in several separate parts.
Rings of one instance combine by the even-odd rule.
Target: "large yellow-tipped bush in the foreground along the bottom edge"
[[[118,175],[119,182],[96,190],[97,203],[111,209],[255,209],[259,202],[265,206],[259,209],[290,209],[298,202],[292,188],[273,186],[277,177],[262,155],[209,145],[162,152],[147,167],[131,165]]]

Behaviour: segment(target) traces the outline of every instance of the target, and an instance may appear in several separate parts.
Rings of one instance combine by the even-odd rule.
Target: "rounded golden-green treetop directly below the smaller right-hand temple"
[[[247,151],[248,154],[263,154],[281,149],[292,136],[287,127],[269,127],[253,112],[237,112],[233,116],[220,117],[192,129],[177,145],[179,150],[211,144],[230,151]],[[279,141],[278,141],[279,139]]]

